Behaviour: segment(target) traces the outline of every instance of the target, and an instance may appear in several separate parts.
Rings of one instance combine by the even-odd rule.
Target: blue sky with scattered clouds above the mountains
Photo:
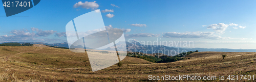
[[[0,7],[0,43],[67,42],[66,24],[100,10],[104,25],[126,41],[187,48],[256,49],[256,1],[40,1],[6,17]],[[166,41],[167,44],[160,42]],[[193,44],[185,45],[188,41]],[[179,43],[181,42],[181,43]],[[174,45],[174,44],[180,45]]]

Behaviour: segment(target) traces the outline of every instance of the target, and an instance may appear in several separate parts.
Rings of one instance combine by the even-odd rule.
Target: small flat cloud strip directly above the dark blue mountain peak
[[[139,37],[158,37],[159,34],[152,34],[152,33],[138,33],[138,34],[125,34],[124,37],[126,38],[139,38]]]

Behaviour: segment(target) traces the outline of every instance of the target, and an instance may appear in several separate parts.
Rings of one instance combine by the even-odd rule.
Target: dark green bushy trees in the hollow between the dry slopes
[[[189,55],[193,52],[198,52],[198,50],[182,52],[182,53],[179,53],[177,56],[174,56],[174,57],[161,56],[161,57],[158,58],[157,55],[155,55],[155,57],[147,56],[146,54],[143,54],[142,52],[133,52],[133,53],[130,52],[130,53],[127,53],[127,56],[144,59],[146,61],[153,62],[153,63],[168,63],[168,62],[175,62],[175,61],[179,61],[179,60],[184,60],[184,58],[181,58],[181,57],[185,57],[185,56],[187,56],[187,55]]]

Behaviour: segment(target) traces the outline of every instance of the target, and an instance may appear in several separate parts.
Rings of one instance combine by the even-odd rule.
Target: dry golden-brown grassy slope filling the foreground
[[[222,54],[227,57],[222,59]],[[69,49],[0,46],[0,81],[148,81],[148,75],[218,77],[256,73],[256,63],[251,63],[256,62],[255,52],[195,52],[185,58],[172,63],[147,64],[150,62],[126,57],[120,68],[113,65],[92,72],[87,55]]]

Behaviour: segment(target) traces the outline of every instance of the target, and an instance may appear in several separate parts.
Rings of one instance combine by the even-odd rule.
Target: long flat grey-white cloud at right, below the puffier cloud
[[[163,33],[165,38],[204,38],[204,39],[245,39],[245,38],[230,38],[230,37],[221,37],[219,35],[214,35],[214,32],[168,32]]]

